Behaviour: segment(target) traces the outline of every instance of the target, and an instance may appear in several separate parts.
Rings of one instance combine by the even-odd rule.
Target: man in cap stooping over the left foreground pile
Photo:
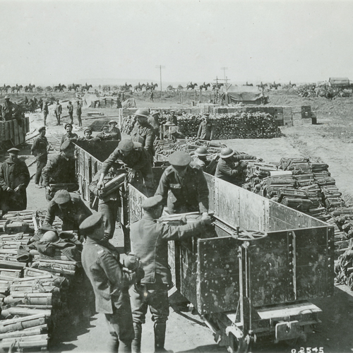
[[[59,190],[56,191],[54,198],[49,202],[44,225],[53,225],[55,217],[59,217],[63,221],[62,230],[78,231],[79,225],[90,215],[92,215],[92,212],[80,196],[66,190]]]

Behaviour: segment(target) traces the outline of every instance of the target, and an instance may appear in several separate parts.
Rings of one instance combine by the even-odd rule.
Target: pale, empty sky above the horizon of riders
[[[353,1],[0,0],[0,85],[353,80],[352,33]]]

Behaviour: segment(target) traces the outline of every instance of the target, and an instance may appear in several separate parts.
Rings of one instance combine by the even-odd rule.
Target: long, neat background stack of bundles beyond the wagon
[[[162,114],[160,120],[166,120]],[[177,116],[179,131],[188,138],[196,138],[198,128],[203,120],[202,114],[182,114]],[[134,116],[124,116],[121,132],[129,135],[136,119]],[[280,136],[272,115],[260,112],[234,112],[210,115],[213,123],[213,139],[227,140],[230,138],[274,138]]]

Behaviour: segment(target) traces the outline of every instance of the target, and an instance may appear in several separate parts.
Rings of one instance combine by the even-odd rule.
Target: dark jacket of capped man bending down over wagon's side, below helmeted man
[[[119,148],[116,148],[111,155],[104,161],[102,172],[107,174],[112,164],[117,160],[123,162],[126,167],[140,171],[143,177],[152,174],[152,164],[148,152],[144,148],[135,148],[131,153],[124,157]]]

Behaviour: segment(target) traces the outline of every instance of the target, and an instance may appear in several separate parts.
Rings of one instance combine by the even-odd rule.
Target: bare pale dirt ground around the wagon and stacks
[[[353,131],[353,98],[341,98],[328,101],[325,98],[305,99],[297,97],[294,91],[271,91],[270,104],[276,105],[311,105],[318,117],[317,125],[297,126],[281,128],[283,136],[266,140],[224,140],[231,148],[241,152],[247,152],[262,157],[265,162],[278,162],[281,157],[311,157],[329,164],[329,170],[336,179],[340,191],[344,193],[345,200],[352,203],[353,187],[350,183],[353,172],[352,153],[352,131]],[[37,95],[38,96],[38,95]],[[155,102],[149,98],[138,95],[136,104],[138,107],[184,107],[180,97],[158,98],[155,95]],[[72,94],[56,94],[60,100],[73,97]],[[66,104],[63,104],[66,115]],[[61,135],[64,133],[64,126],[54,126],[56,119],[53,112],[54,106],[49,107],[48,133]],[[83,117],[86,112],[94,109],[84,108]],[[114,114],[114,109],[95,109],[104,112],[105,115]],[[63,119],[68,122],[67,118]],[[75,116],[74,121],[77,123]],[[88,126],[92,119],[84,119],[83,125]],[[43,123],[42,114],[36,112],[30,114],[30,129],[35,134],[35,129]],[[82,129],[77,125],[74,128],[79,136],[83,135]],[[27,157],[27,163],[33,161],[28,150],[22,152]],[[0,156],[3,160],[5,155]],[[31,167],[31,174],[35,166]],[[28,187],[28,208],[45,209],[44,190],[35,189],[34,181]],[[353,297],[352,292],[345,286],[335,287],[335,296],[326,299],[313,301],[319,306],[321,314],[321,325],[318,325],[313,333],[308,335],[306,342],[301,340],[292,347],[284,345],[270,345],[256,347],[255,352],[310,352],[309,348],[323,347],[323,352],[352,352],[353,351]],[[89,325],[80,322],[69,323],[63,330],[60,337],[61,343],[54,347],[55,352],[109,352],[107,342],[109,334],[101,315],[90,318]],[[177,313],[171,309],[167,322],[166,348],[174,352],[226,352],[224,347],[218,347],[210,330],[202,323],[201,318],[191,313]],[[295,349],[295,351],[294,351]],[[148,318],[143,328],[143,352],[153,352],[152,321]],[[315,352],[315,351],[313,351]]]

